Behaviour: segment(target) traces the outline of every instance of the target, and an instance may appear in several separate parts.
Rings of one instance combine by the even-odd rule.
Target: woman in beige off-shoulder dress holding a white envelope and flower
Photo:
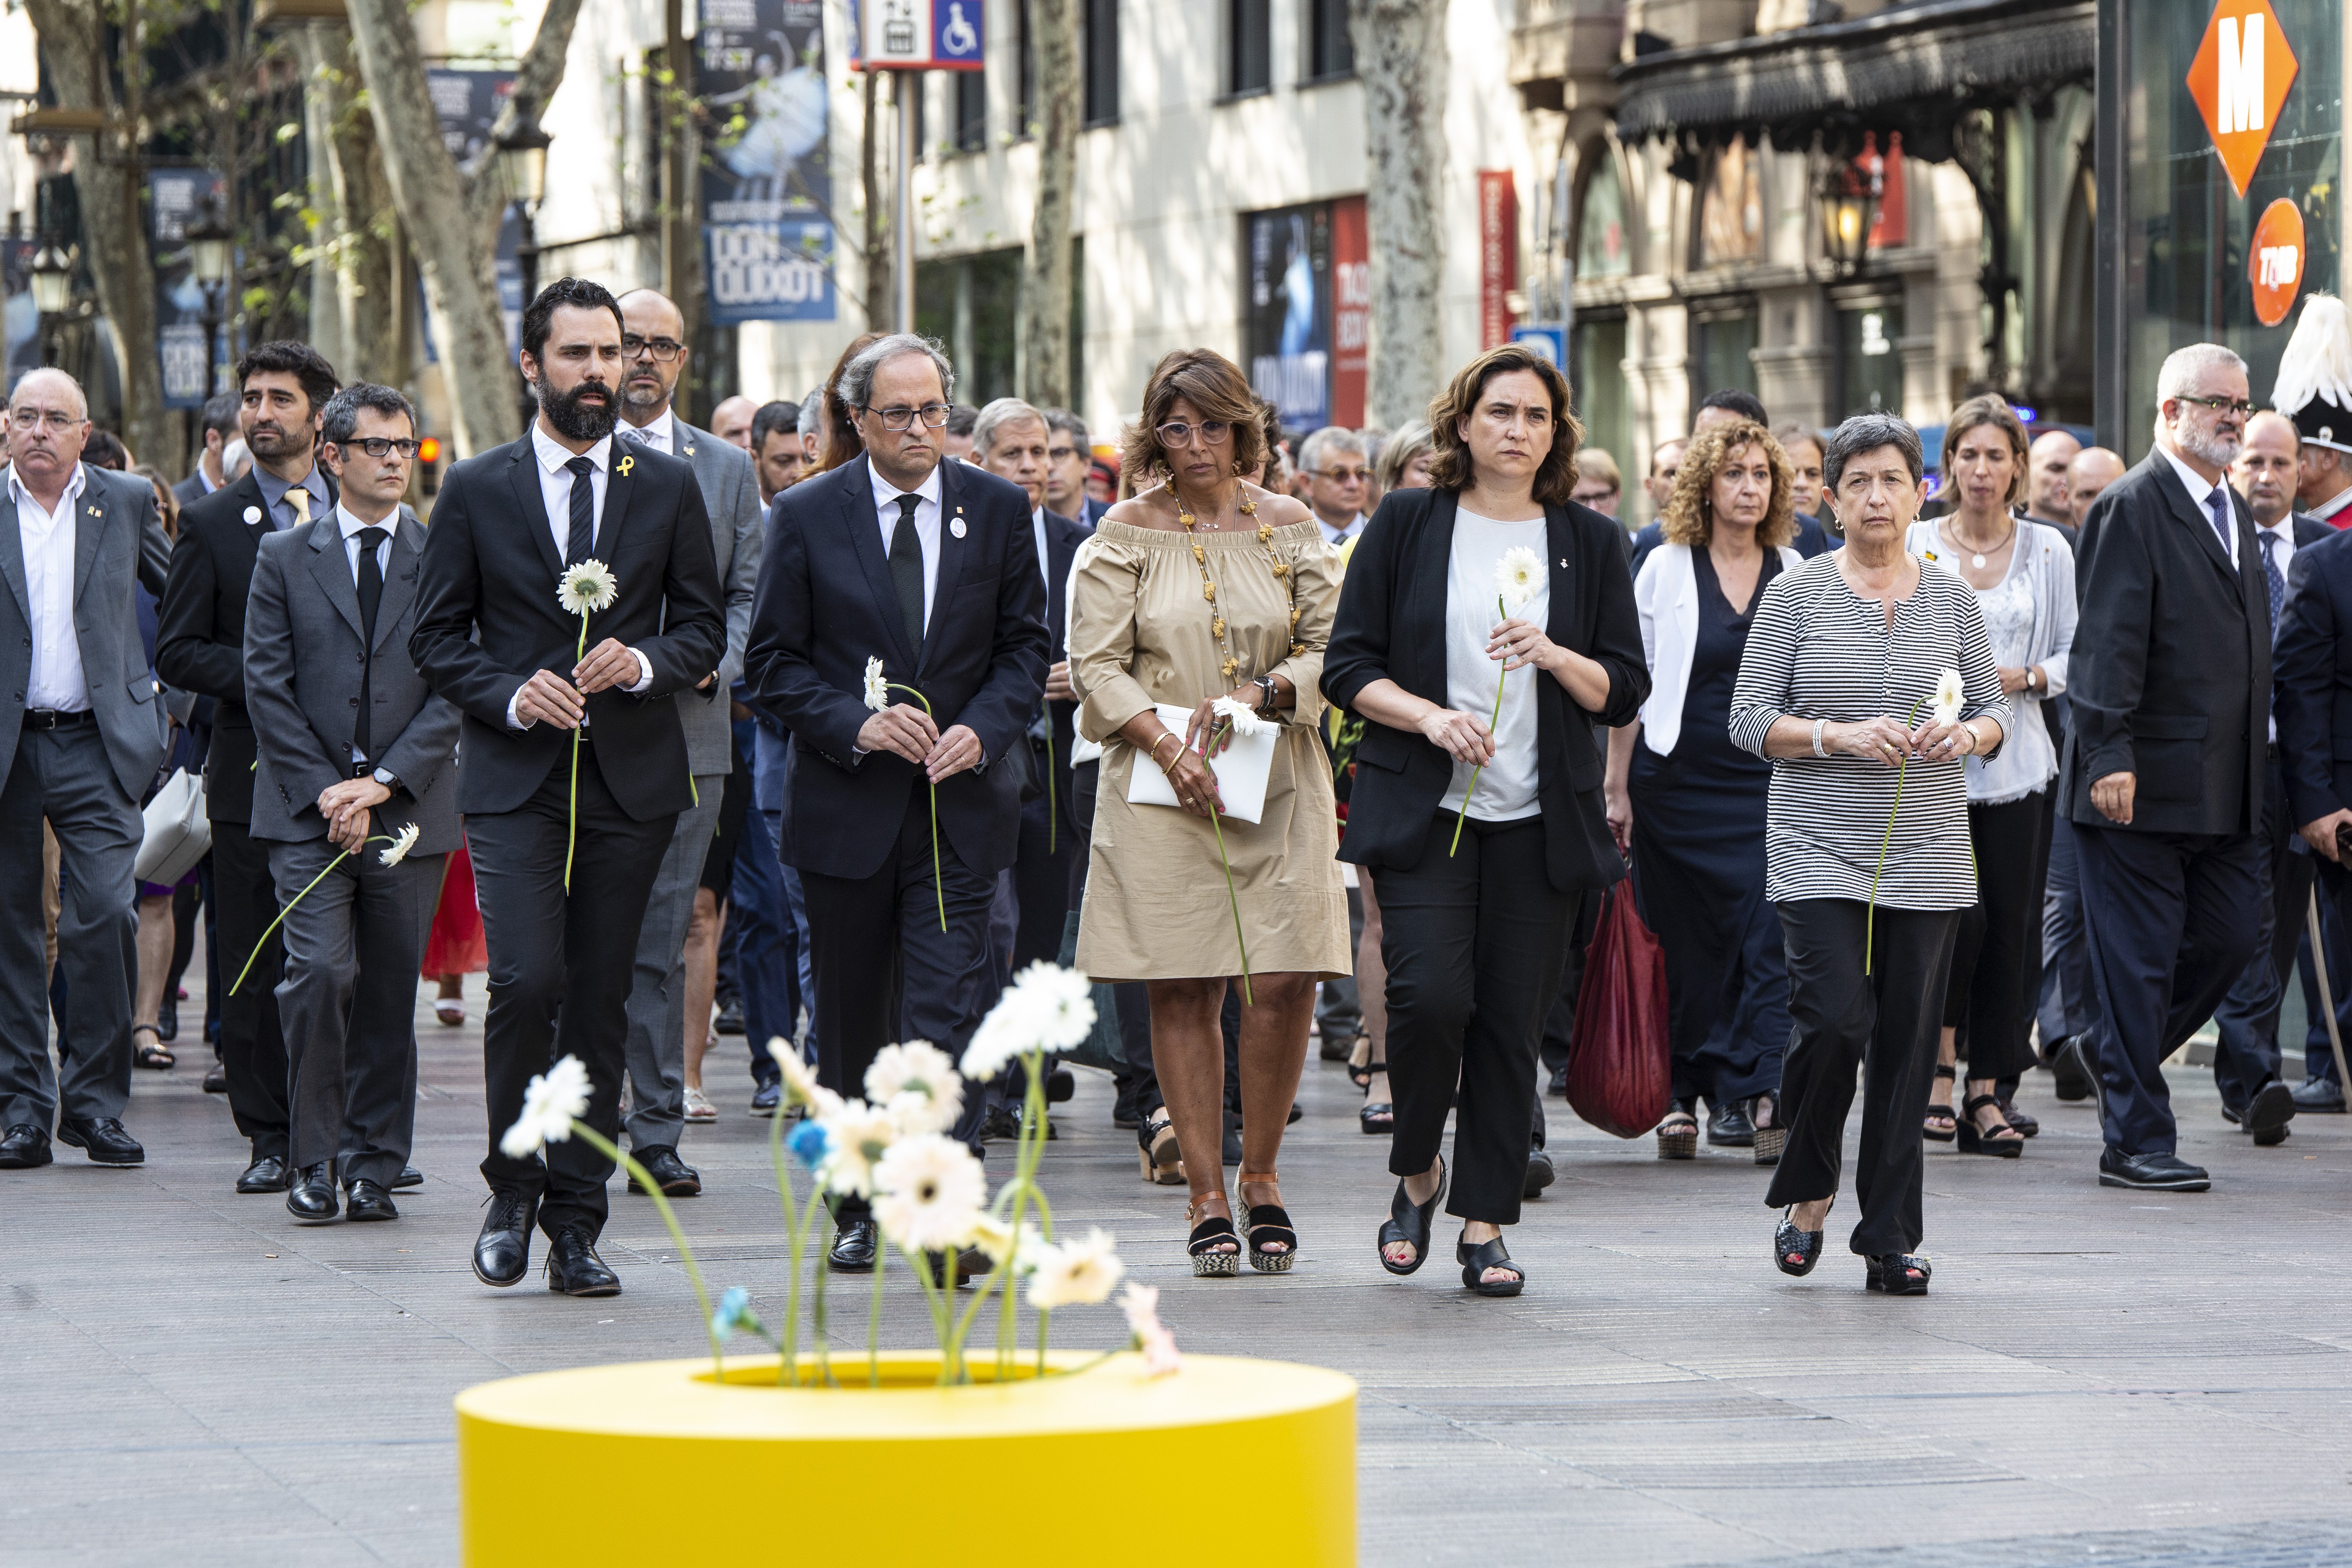
[[[1232,362],[1202,348],[1164,357],[1122,451],[1122,468],[1148,487],[1110,508],[1070,578],[1077,729],[1103,743],[1077,964],[1098,980],[1150,985],[1152,1065],[1176,1145],[1192,1152],[1195,1274],[1235,1274],[1244,1244],[1254,1269],[1296,1262],[1275,1157],[1308,1056],[1315,983],[1348,973],[1348,893],[1317,729],[1338,569],[1298,501],[1240,477],[1256,473],[1261,440]],[[1258,823],[1211,823],[1225,741],[1211,712],[1218,698],[1277,724]],[[1183,729],[1160,722],[1162,703],[1190,712]],[[1129,804],[1138,766],[1167,773],[1181,809]],[[1218,1013],[1244,973],[1237,919],[1249,973],[1240,1237],[1218,1161]]]

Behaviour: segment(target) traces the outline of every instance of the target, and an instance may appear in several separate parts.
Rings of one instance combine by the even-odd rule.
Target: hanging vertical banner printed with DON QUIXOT
[[[821,0],[701,0],[706,301],[734,322],[833,320]]]

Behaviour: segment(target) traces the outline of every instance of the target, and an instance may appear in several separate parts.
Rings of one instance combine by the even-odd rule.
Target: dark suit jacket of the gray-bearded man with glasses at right
[[[2237,571],[2164,451],[2091,503],[2074,545],[2082,621],[2058,809],[2124,830],[2091,783],[2133,773],[2133,832],[2253,832],[2270,743],[2270,590],[2230,491]]]

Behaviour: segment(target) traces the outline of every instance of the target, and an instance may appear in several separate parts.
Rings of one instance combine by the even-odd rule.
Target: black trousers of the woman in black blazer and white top
[[[1388,1171],[1428,1171],[1456,1110],[1446,1213],[1517,1225],[1536,1046],[1585,893],[1562,893],[1545,877],[1543,818],[1470,820],[1454,856],[1451,837],[1454,816],[1435,816],[1414,870],[1378,872],[1397,1105]]]

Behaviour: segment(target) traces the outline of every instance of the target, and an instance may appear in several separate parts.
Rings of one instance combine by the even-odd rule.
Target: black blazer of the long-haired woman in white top
[[[1446,569],[1454,555],[1454,491],[1399,489],[1381,501],[1348,557],[1338,621],[1324,654],[1324,696],[1355,712],[1376,679],[1446,701]],[[1625,531],[1583,505],[1543,508],[1550,562],[1545,632],[1609,670],[1609,708],[1592,715],[1536,670],[1536,799],[1543,804],[1545,872],[1562,893],[1609,886],[1625,875],[1602,809],[1595,724],[1632,724],[1649,698],[1642,616],[1625,569]],[[1496,665],[1501,668],[1501,665]],[[1454,762],[1418,733],[1364,722],[1338,858],[1411,870],[1444,809]]]

